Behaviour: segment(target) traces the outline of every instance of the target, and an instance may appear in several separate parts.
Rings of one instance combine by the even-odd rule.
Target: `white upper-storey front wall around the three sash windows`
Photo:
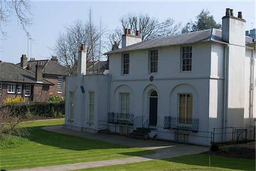
[[[181,72],[181,46],[176,45],[158,48],[158,73],[149,72],[149,50],[130,52],[130,73],[128,75],[122,75],[122,54],[110,55],[109,73],[113,80],[148,80],[150,76],[156,79],[209,77],[210,48],[209,42],[192,45],[192,72]]]

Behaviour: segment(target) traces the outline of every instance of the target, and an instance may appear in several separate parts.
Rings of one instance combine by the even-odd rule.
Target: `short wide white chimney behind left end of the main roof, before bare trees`
[[[135,43],[139,43],[141,41],[142,41],[142,37],[140,36],[139,31],[136,31],[136,35],[131,35],[131,30],[126,28],[125,34],[122,35],[122,48]]]

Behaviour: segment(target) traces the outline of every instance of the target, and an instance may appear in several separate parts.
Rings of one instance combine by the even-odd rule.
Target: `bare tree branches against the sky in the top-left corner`
[[[16,15],[18,22],[21,24],[22,29],[28,34],[27,27],[31,26],[31,2],[28,0],[1,0],[0,1],[0,30],[2,37],[7,34],[3,30],[3,26],[10,22],[10,16]]]

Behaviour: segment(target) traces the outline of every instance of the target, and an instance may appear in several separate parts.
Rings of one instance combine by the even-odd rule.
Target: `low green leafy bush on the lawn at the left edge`
[[[0,136],[0,149],[18,147],[26,140],[20,136],[2,134]]]

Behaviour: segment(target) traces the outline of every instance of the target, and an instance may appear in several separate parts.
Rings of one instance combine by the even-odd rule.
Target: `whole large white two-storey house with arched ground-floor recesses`
[[[245,23],[226,9],[222,30],[142,41],[126,29],[122,48],[106,53],[109,74],[86,75],[82,44],[77,76],[66,81],[64,127],[203,145],[248,138],[256,72]]]

